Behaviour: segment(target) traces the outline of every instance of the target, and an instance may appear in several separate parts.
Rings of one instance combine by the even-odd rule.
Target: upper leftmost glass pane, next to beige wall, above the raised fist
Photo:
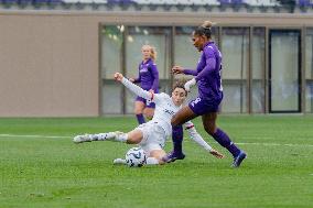
[[[123,30],[119,25],[107,25],[101,30],[101,78],[112,79],[115,72],[121,72]]]

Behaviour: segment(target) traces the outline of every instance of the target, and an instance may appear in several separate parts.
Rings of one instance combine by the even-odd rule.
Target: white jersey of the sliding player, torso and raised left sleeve
[[[155,123],[160,125],[164,131],[166,136],[172,133],[172,124],[171,119],[173,116],[182,108],[182,106],[175,106],[172,98],[164,92],[161,94],[152,94],[147,90],[141,89],[137,85],[129,81],[127,78],[123,78],[121,81],[129,90],[142,97],[144,99],[150,99],[155,103],[154,116],[151,121],[148,123]]]

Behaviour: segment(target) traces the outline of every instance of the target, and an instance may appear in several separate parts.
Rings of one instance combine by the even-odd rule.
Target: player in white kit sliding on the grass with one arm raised
[[[164,164],[166,162],[166,153],[163,150],[165,145],[165,140],[172,133],[171,119],[175,112],[177,112],[182,103],[186,98],[186,90],[184,89],[184,85],[176,85],[173,88],[172,97],[169,95],[153,94],[137,85],[129,81],[127,78],[122,76],[120,73],[115,74],[115,79],[117,81],[122,83],[125,87],[127,87],[130,91],[140,96],[147,100],[151,100],[155,103],[155,111],[153,119],[147,123],[140,124],[134,130],[122,133],[122,132],[108,132],[108,133],[99,133],[99,134],[85,134],[85,135],[76,135],[74,138],[75,143],[82,142],[91,142],[91,141],[117,141],[123,142],[127,144],[138,144],[145,152],[148,160],[148,165],[154,164]],[[196,143],[207,150],[214,156],[222,158],[223,154],[212,149],[196,132],[192,122],[186,122],[185,127],[188,131],[191,139],[193,139]],[[114,162],[115,164],[122,163],[125,164],[125,160],[117,158]]]

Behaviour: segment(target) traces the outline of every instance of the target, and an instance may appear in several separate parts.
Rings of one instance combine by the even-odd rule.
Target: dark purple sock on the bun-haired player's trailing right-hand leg
[[[238,154],[240,153],[240,150],[236,146],[236,144],[233,143],[228,135],[220,129],[217,129],[217,131],[212,136],[222,146],[226,147],[233,154],[234,157],[238,156]]]

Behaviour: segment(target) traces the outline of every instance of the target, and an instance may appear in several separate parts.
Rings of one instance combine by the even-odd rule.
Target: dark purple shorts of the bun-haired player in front
[[[204,100],[201,97],[197,97],[196,99],[192,100],[188,103],[188,107],[192,109],[192,111],[197,114],[206,114],[209,112],[218,112],[218,107],[220,103],[220,100]]]

